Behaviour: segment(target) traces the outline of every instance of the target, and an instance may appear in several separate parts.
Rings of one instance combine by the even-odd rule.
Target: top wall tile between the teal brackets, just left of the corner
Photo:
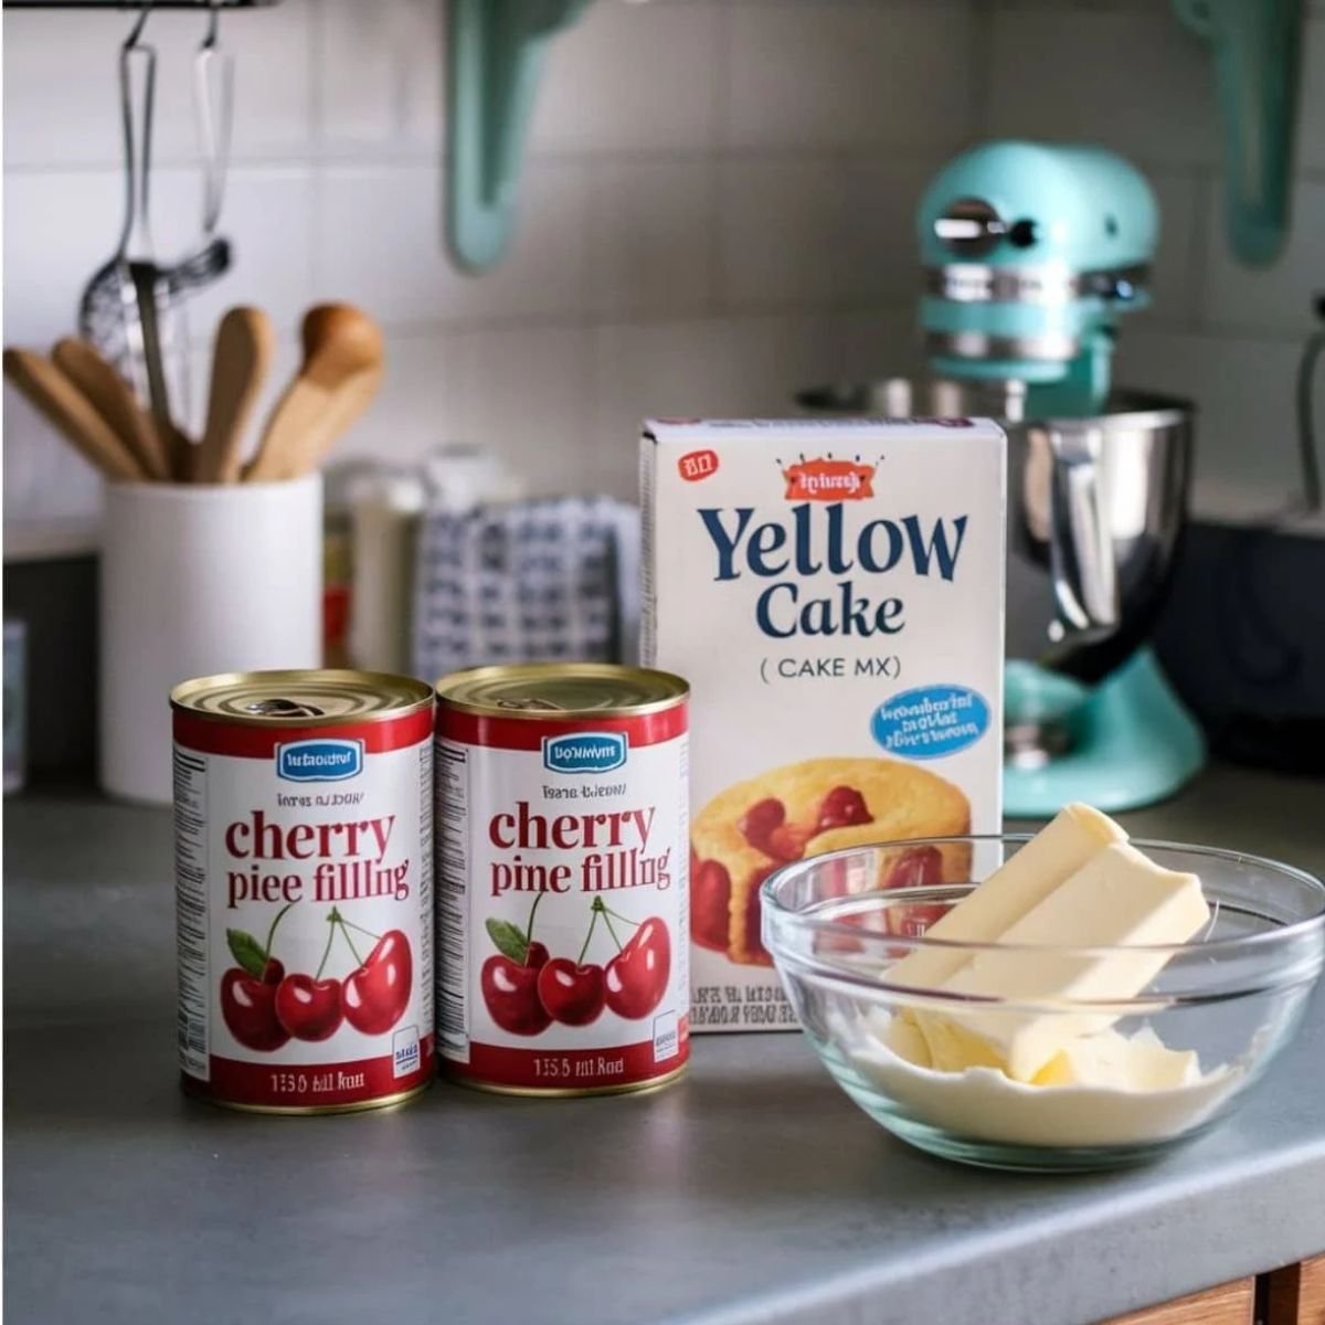
[[[946,148],[973,131],[973,7],[759,0],[730,23],[730,146]]]

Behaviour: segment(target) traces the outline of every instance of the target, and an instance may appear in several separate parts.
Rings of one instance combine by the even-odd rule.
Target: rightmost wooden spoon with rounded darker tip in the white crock
[[[272,411],[257,458],[244,477],[270,482],[303,473],[307,457],[327,444],[326,421],[338,408],[341,390],[359,374],[380,371],[382,359],[382,329],[366,313],[348,303],[309,309],[303,318],[303,366]],[[343,401],[339,408],[346,408]]]

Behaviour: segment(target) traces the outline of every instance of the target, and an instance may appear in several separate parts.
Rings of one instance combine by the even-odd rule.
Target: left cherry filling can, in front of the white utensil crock
[[[398,1104],[435,1071],[433,696],[371,672],[171,693],[179,1059],[270,1113]]]

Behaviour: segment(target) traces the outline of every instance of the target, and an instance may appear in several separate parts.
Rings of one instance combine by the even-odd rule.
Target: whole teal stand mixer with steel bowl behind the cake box
[[[1006,420],[1006,812],[1159,800],[1204,743],[1145,647],[1185,518],[1192,408],[1112,384],[1118,323],[1147,302],[1154,196],[1112,152],[995,142],[934,179],[917,229],[933,376],[798,400]]]

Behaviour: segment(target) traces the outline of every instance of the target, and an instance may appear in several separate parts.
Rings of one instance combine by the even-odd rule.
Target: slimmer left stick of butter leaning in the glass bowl
[[[1128,835],[1090,806],[1065,806],[1015,856],[925,931],[926,938],[994,943],[1092,856]],[[917,949],[888,971],[889,984],[937,988],[966,965],[967,954]]]

